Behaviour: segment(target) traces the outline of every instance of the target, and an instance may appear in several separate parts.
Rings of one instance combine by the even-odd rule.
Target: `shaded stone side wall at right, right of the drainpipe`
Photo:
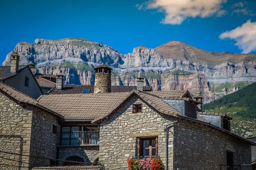
[[[250,144],[206,125],[185,120],[175,124],[173,145],[175,170],[220,170],[222,164],[227,164],[227,150],[235,152],[235,165],[251,162]],[[237,170],[250,168],[236,167]]]

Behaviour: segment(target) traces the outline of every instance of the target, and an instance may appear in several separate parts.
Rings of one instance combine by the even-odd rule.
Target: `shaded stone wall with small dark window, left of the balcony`
[[[52,133],[52,125],[57,126],[57,134]],[[57,144],[60,139],[60,126],[57,116],[40,108],[34,108],[32,115],[31,156],[56,159]],[[49,159],[31,158],[34,166],[49,166]]]

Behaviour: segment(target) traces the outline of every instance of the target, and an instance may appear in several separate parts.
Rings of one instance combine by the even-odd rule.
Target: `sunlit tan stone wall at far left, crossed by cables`
[[[0,92],[0,150],[10,153],[20,153],[20,138],[22,142],[22,154],[29,155],[31,137],[32,107],[20,105],[12,101]],[[11,137],[15,135],[15,137]],[[10,137],[8,137],[10,136]],[[19,165],[19,156],[9,153],[0,153],[1,157],[14,159],[15,161],[0,158],[1,164]],[[29,162],[29,157],[22,157],[22,161]],[[29,164],[22,164],[29,166]],[[18,167],[0,165],[1,170],[17,170]],[[27,170],[27,168],[22,168]]]

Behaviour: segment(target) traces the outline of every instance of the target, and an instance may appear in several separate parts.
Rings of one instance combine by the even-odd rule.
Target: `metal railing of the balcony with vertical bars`
[[[75,131],[72,136],[78,144],[99,144],[99,130]]]

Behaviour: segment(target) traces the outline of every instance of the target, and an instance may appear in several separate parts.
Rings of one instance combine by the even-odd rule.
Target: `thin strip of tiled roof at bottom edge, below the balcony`
[[[59,167],[33,167],[32,170],[101,170],[99,166],[69,165]]]

